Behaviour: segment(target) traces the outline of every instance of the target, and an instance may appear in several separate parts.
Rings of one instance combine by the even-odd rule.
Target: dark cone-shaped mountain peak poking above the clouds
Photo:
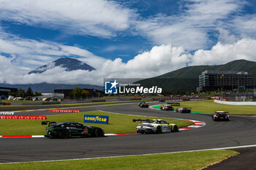
[[[56,66],[64,67],[67,71],[78,69],[89,71],[95,70],[94,67],[89,66],[87,63],[83,63],[82,61],[78,61],[75,58],[59,58],[58,60],[53,61],[52,63],[48,63],[44,66],[39,66],[37,69],[34,69],[33,71],[29,72],[29,74],[40,74],[48,69],[53,69]]]

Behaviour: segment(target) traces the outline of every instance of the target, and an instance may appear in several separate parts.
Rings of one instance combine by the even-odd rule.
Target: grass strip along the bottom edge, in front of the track
[[[34,163],[2,164],[0,169],[202,169],[237,155],[233,150],[210,150],[157,155],[138,155],[118,158],[97,158],[79,161],[53,161]]]

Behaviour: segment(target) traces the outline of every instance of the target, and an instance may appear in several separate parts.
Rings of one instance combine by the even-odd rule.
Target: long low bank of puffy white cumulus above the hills
[[[148,78],[165,74],[184,66],[223,64],[236,59],[256,61],[256,40],[241,39],[233,44],[217,43],[211,50],[197,50],[194,55],[186,53],[183,47],[160,45],[150,51],[135,56],[124,63],[121,58],[105,61],[100,69],[94,71],[65,71],[56,66],[42,74],[17,74],[11,58],[1,56],[6,67],[1,82],[26,84],[34,82],[93,84],[102,85],[103,78]],[[12,70],[13,69],[13,70]]]

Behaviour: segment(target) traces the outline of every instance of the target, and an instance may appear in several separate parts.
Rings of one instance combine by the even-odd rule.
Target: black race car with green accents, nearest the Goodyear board
[[[42,122],[46,127],[45,137],[66,139],[69,137],[83,137],[83,136],[104,136],[105,131],[102,128],[83,125],[77,122]]]

